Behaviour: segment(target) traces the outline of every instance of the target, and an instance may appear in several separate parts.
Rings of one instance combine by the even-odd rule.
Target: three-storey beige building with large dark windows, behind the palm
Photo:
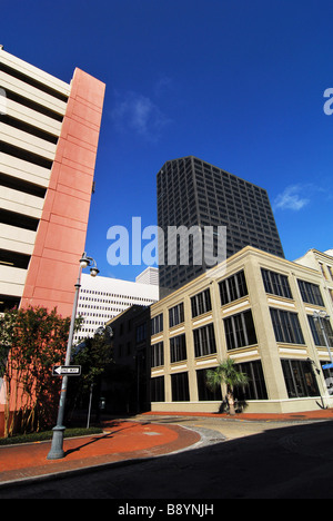
[[[330,315],[323,326],[333,347],[332,283],[320,267],[248,246],[225,269],[212,268],[153,304],[152,410],[219,412],[225,390],[210,392],[205,375],[226,358],[250,377],[236,391],[246,412],[332,406],[333,372],[323,370],[330,354],[314,320],[314,312]]]

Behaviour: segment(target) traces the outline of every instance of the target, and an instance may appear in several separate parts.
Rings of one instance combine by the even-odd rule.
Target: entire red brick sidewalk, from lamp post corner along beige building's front
[[[170,454],[201,441],[201,435],[191,429],[158,423],[161,416],[174,423],[180,417],[224,419],[234,424],[239,421],[303,422],[333,420],[333,410],[297,414],[244,413],[235,417],[228,414],[149,412],[134,420],[108,421],[103,422],[103,434],[64,440],[65,458],[62,460],[47,460],[51,442],[0,446],[0,486],[32,478],[62,474],[110,463],[124,464],[129,461]],[[222,425],[220,429],[223,431]]]

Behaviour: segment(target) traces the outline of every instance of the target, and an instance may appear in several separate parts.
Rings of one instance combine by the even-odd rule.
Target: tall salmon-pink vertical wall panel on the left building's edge
[[[75,69],[21,306],[72,313],[84,250],[105,85]],[[92,253],[93,254],[93,253]]]

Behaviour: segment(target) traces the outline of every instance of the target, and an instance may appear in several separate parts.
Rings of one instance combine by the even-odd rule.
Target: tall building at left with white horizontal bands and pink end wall
[[[67,83],[0,47],[0,312],[71,315],[104,90],[80,69]]]

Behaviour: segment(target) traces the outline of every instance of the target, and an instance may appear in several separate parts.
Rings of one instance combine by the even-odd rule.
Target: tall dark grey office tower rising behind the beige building
[[[158,225],[164,234],[159,242],[160,259],[164,262],[160,263],[161,298],[210,267],[204,258],[200,265],[194,264],[191,236],[189,265],[180,262],[180,240],[175,265],[168,263],[170,226],[198,226],[201,230],[213,226],[215,238],[216,227],[225,226],[226,257],[250,245],[284,258],[270,199],[263,188],[193,156],[167,161],[157,183]]]

